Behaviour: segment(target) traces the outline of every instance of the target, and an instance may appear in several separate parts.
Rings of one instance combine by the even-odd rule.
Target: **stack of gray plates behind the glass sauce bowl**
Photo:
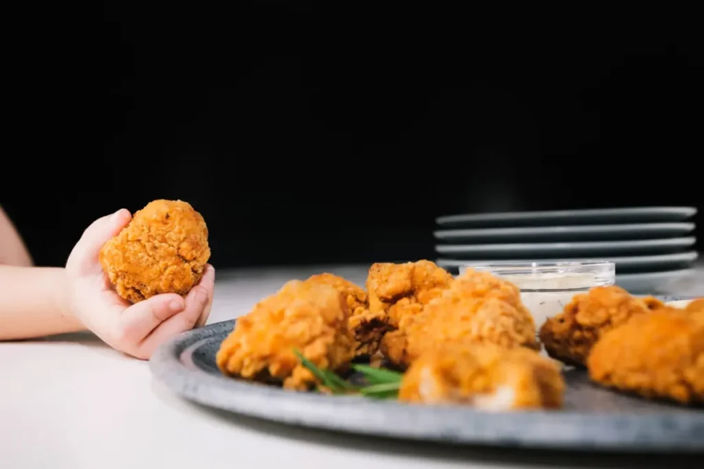
[[[436,219],[440,266],[603,259],[631,293],[670,293],[693,274],[694,207],[448,215]]]

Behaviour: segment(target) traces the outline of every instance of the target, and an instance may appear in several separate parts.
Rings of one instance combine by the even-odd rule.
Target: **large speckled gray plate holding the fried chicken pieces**
[[[206,406],[291,425],[381,437],[491,446],[614,451],[702,451],[704,410],[646,401],[565,373],[562,411],[486,413],[361,397],[291,392],[222,376],[215,353],[234,321],[191,330],[152,356],[155,378]]]

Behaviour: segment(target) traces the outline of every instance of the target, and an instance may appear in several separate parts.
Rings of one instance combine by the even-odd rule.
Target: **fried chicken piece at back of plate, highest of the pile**
[[[370,311],[387,314],[391,326],[398,327],[403,316],[420,312],[453,281],[448,271],[427,260],[373,264],[367,277]]]

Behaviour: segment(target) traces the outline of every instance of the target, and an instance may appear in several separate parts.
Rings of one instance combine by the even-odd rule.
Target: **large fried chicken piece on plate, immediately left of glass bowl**
[[[408,366],[438,343],[488,342],[501,347],[539,349],[535,323],[520,290],[488,272],[468,269],[420,313],[401,318],[387,333],[382,351],[398,366]]]

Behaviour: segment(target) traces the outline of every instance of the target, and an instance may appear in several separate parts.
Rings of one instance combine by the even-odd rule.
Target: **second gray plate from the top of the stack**
[[[628,225],[523,226],[519,228],[477,228],[438,230],[436,239],[448,243],[509,243],[529,241],[593,241],[670,238],[691,233],[693,223],[641,223]]]

